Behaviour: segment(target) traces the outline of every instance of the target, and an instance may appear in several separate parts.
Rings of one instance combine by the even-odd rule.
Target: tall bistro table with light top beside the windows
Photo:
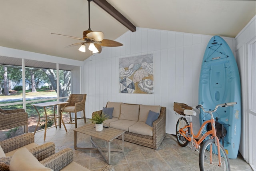
[[[68,102],[50,101],[50,102],[45,102],[45,103],[36,103],[36,104],[33,104],[33,107],[36,109],[36,112],[38,113],[38,123],[37,123],[37,125],[36,125],[36,129],[35,129],[35,131],[34,131],[34,134],[36,133],[36,130],[37,130],[38,125],[39,125],[39,123],[40,123],[40,119],[43,118],[43,117],[40,117],[40,113],[39,113],[37,107],[43,107],[43,108],[44,108],[44,113],[45,113],[45,116],[44,116],[44,117],[45,117],[44,140],[45,140],[45,137],[46,137],[46,129],[47,129],[47,121],[48,121],[48,120],[54,119],[55,127],[57,128],[56,118],[60,118],[60,119],[62,120],[62,123],[63,123],[63,126],[64,126],[66,132],[68,132],[67,129],[66,129],[66,126],[65,126],[65,124],[64,124],[64,121],[63,121],[63,119],[62,119],[62,112],[60,111],[60,115],[55,114],[56,105],[61,105],[61,104],[65,104],[65,106],[63,107],[63,108],[65,108],[66,105],[68,104]],[[53,114],[48,114],[48,113],[46,112],[46,107],[49,107],[49,106],[54,106]],[[59,125],[60,125],[60,127],[61,127],[61,122],[59,122]]]

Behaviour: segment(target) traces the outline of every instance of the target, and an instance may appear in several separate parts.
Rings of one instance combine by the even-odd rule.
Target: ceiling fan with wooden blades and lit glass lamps
[[[89,28],[88,28],[88,30],[85,30],[83,32],[83,38],[66,36],[63,34],[57,34],[57,35],[66,36],[68,38],[73,38],[73,39],[78,39],[78,40],[83,40],[84,42],[75,43],[75,44],[66,46],[66,47],[71,47],[71,46],[80,46],[81,45],[80,48],[78,49],[81,52],[86,52],[86,49],[88,49],[88,50],[92,51],[92,53],[94,54],[94,53],[101,52],[101,50],[102,50],[101,46],[108,46],[108,47],[123,46],[123,44],[116,42],[114,40],[104,39],[103,32],[91,30],[91,28],[90,28],[90,1],[92,1],[92,0],[88,0]],[[56,34],[56,33],[52,33],[52,34]]]

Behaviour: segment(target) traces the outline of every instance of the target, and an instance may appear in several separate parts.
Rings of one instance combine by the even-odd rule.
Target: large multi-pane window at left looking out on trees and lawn
[[[34,132],[38,113],[32,104],[58,99],[66,101],[71,93],[73,69],[74,77],[80,75],[79,67],[76,66],[0,56],[0,108],[26,109],[28,131]],[[76,88],[79,90],[74,90],[76,93],[80,92],[78,85]],[[40,115],[44,115],[44,109],[39,111]],[[22,127],[0,131],[0,139],[6,138],[4,134],[16,136],[18,133],[23,133]]]

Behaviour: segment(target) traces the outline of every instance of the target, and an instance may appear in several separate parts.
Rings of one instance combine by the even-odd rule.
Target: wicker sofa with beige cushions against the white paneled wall
[[[112,118],[104,121],[104,125],[126,131],[125,141],[158,149],[166,136],[166,107],[109,101],[106,108],[112,107],[114,107]],[[152,127],[146,124],[150,110],[159,113]],[[92,115],[95,113],[102,114],[102,110],[95,111]],[[121,138],[121,136],[118,137],[118,139]]]

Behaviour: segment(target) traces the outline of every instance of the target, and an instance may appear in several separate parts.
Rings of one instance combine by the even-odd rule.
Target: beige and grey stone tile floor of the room
[[[78,127],[84,125],[82,119],[78,121]],[[63,126],[57,129],[48,128],[45,141],[44,131],[40,130],[35,134],[35,142],[43,144],[52,141],[56,145],[56,152],[65,148],[74,150],[74,124],[66,124],[66,127],[67,133]],[[97,143],[101,146],[106,145],[104,141]],[[92,145],[90,137],[78,133],[78,145],[79,147]],[[120,149],[121,140],[114,139],[111,143],[112,147]],[[74,150],[74,161],[92,171],[99,171],[106,165],[105,160],[96,150]],[[188,147],[180,147],[176,137],[170,134],[166,134],[158,150],[125,141],[123,153],[111,152],[111,165],[116,171],[199,171],[198,152]],[[230,167],[232,171],[252,171],[240,154],[237,159],[230,159]]]

